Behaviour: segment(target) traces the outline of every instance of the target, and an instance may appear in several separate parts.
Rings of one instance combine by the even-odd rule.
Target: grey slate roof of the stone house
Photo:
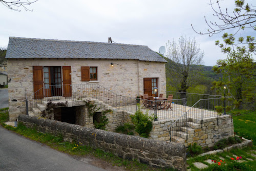
[[[138,59],[167,62],[147,46],[9,37],[6,58]]]

